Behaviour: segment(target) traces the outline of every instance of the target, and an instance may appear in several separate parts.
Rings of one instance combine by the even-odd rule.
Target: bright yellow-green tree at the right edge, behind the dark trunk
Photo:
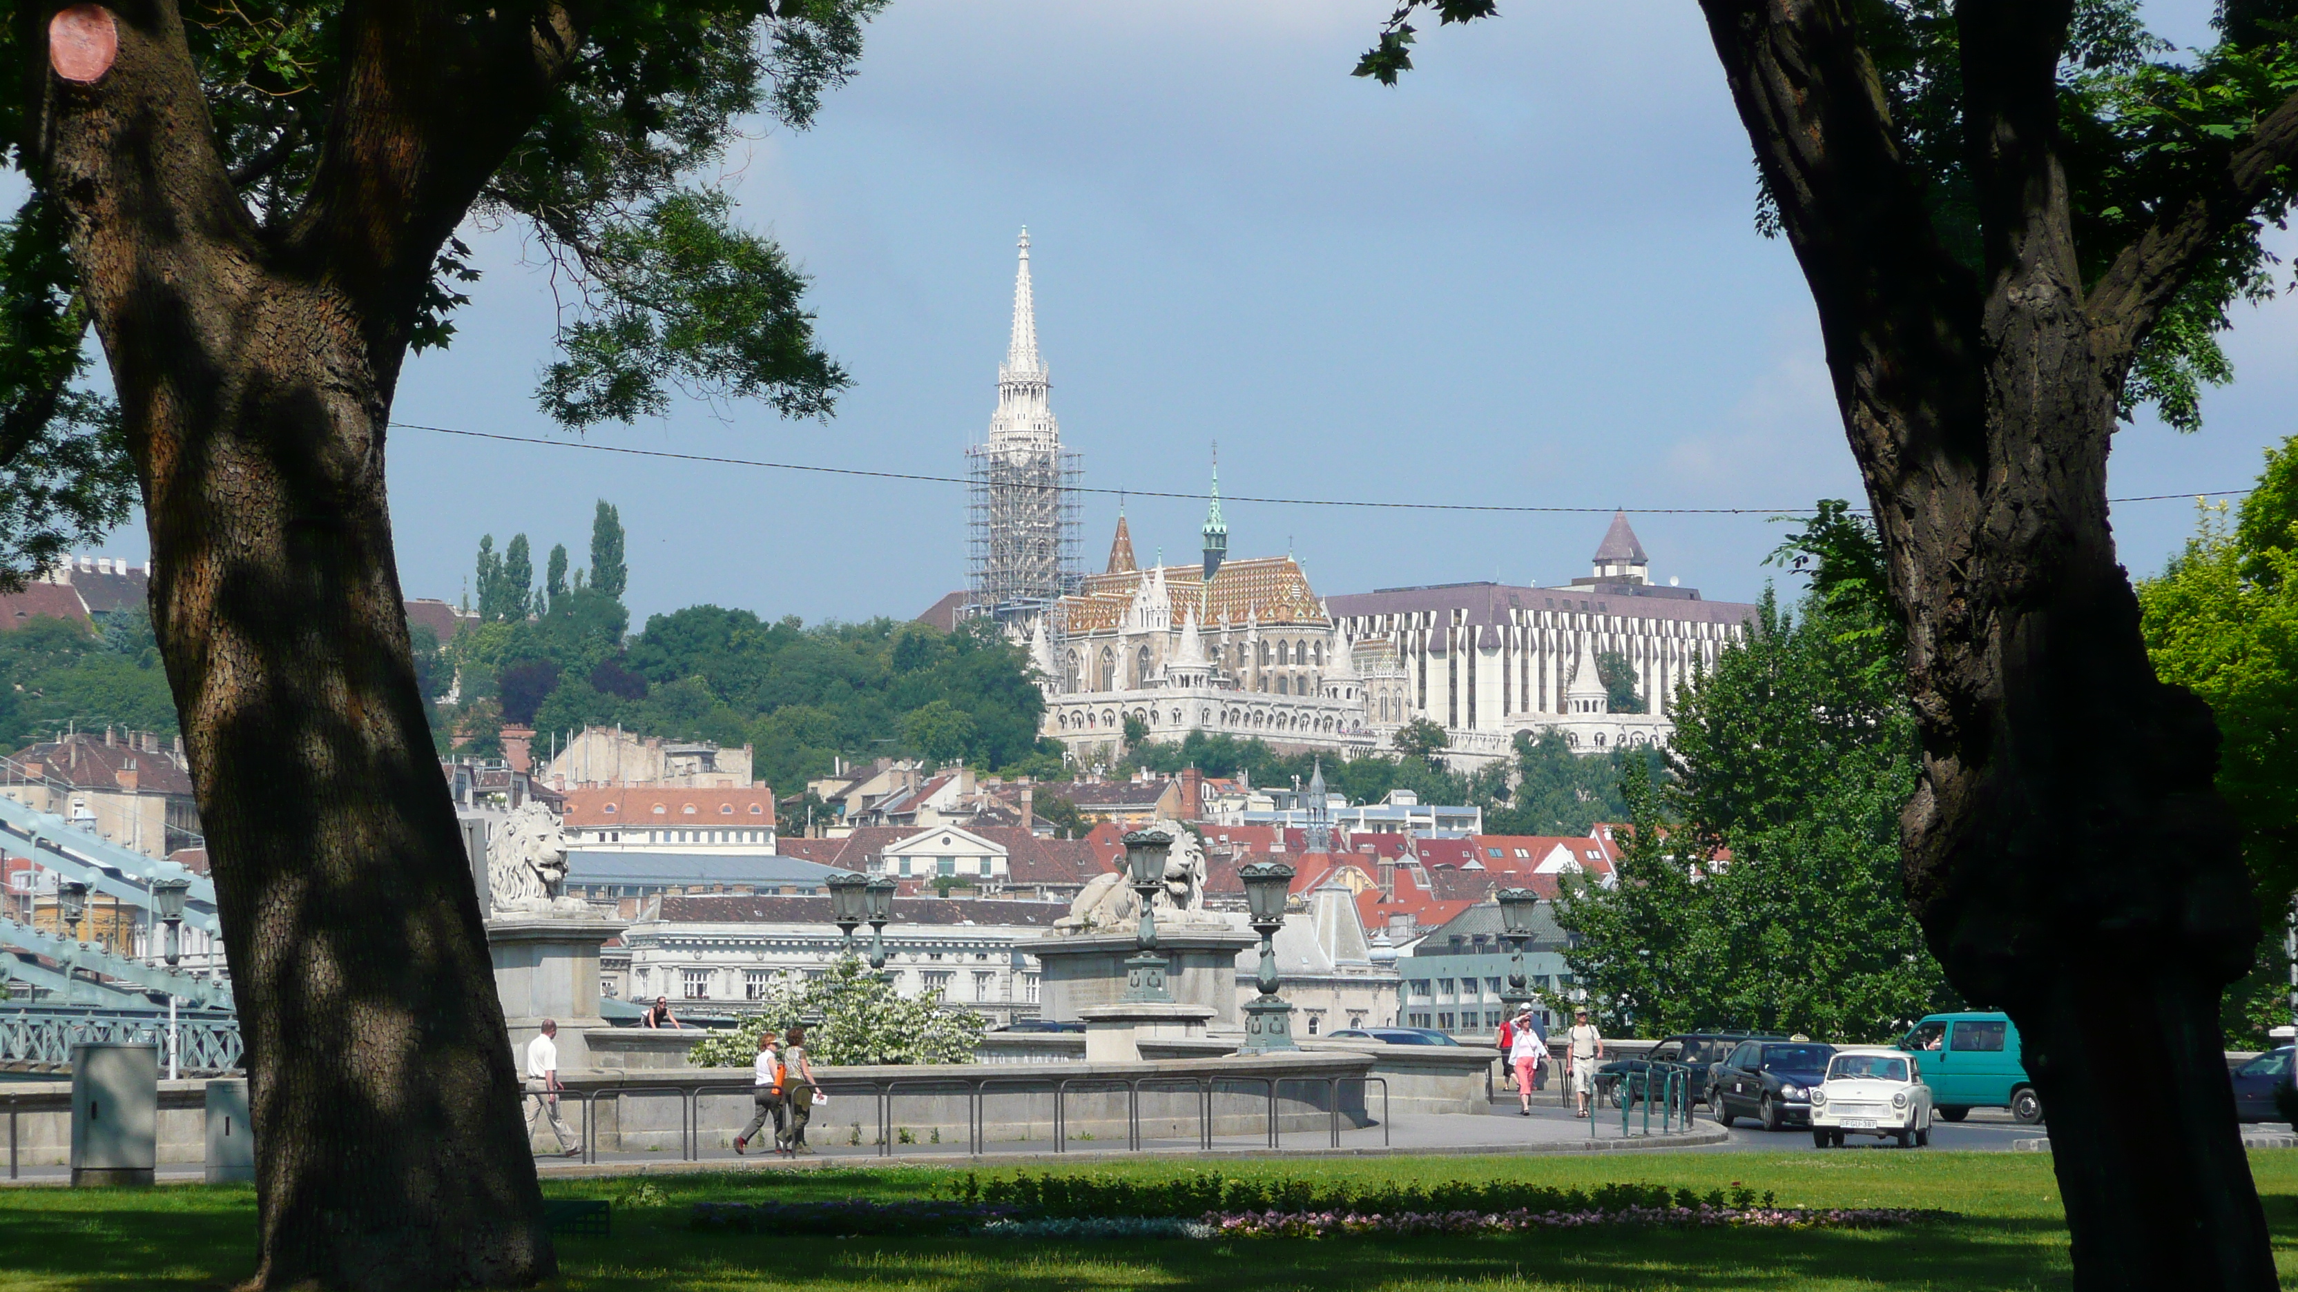
[[[2243,862],[2268,926],[2298,892],[2298,437],[2268,451],[2231,531],[2204,506],[2185,549],[2137,584],[2156,674],[2211,703],[2224,736],[2218,791],[2243,830]],[[2261,938],[2257,970],[2227,989],[2229,1037],[2264,1044],[2291,1021],[2289,961]]]

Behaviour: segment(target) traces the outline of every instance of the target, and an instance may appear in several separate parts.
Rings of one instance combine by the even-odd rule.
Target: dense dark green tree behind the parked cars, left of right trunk
[[[1627,768],[1620,880],[1558,903],[1567,961],[1613,1025],[1882,1041],[1953,1000],[1898,878],[1903,664],[1864,602],[1813,591],[1790,616],[1765,591],[1758,614],[1678,694],[1675,782]]]

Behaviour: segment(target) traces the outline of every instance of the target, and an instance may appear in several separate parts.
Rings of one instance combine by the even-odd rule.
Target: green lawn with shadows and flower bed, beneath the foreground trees
[[[1062,1170],[1179,1175],[1197,1163],[1101,1163]],[[2043,1154],[1836,1152],[1636,1154],[1609,1159],[1347,1159],[1206,1163],[1225,1175],[1321,1179],[1535,1179],[1595,1186],[1613,1179],[1689,1186],[1744,1182],[1790,1207],[1923,1207],[1956,1212],[1898,1230],[1567,1230],[1491,1239],[779,1239],[696,1235],[687,1202],[745,1198],[926,1198],[942,1170],[745,1170],[650,1177],[664,1200],[623,1202],[634,1177],[556,1182],[552,1198],[611,1198],[614,1237],[563,1237],[554,1287],[673,1290],[1524,1290],[1753,1287],[2066,1287],[2066,1230]],[[2275,1230],[2282,1285],[2298,1287],[2298,1152],[2252,1154]],[[984,1177],[995,1175],[984,1170]],[[0,1292],[214,1290],[250,1267],[253,1191],[21,1189],[0,1193]]]

